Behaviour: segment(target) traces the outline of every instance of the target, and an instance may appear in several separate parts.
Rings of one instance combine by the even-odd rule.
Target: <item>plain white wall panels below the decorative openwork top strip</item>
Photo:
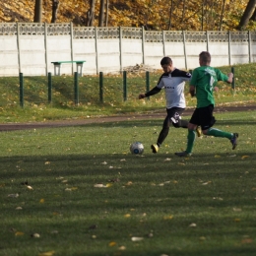
[[[72,44],[73,42],[73,44]],[[73,48],[72,48],[73,45]],[[54,75],[53,61],[85,60],[83,74],[119,72],[127,66],[142,64],[160,69],[160,59],[170,56],[174,66],[194,69],[198,54],[207,50],[212,54],[213,66],[226,66],[249,62],[247,41],[181,41],[143,42],[138,38],[74,38],[63,35],[0,35],[0,76]],[[186,53],[186,54],[185,54]],[[20,54],[20,55],[19,55]],[[230,54],[230,55],[229,55]],[[20,58],[20,66],[19,66]],[[47,63],[46,63],[47,59]],[[256,42],[251,41],[251,61],[256,62]],[[76,65],[62,64],[61,74],[72,75]]]

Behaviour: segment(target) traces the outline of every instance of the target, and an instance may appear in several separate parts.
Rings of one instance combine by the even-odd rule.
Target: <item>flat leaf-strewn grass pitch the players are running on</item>
[[[161,119],[1,132],[0,255],[255,255],[256,114],[216,117],[237,149],[204,137],[186,159],[181,128],[151,153]]]

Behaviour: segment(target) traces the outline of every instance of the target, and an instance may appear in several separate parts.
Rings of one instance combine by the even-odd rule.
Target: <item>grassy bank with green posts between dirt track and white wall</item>
[[[222,67],[227,74],[230,67]],[[256,102],[256,65],[234,66],[234,90],[231,85],[220,83],[216,94],[217,104],[240,104]],[[150,73],[150,88],[154,88],[160,72]],[[24,78],[24,107],[20,106],[19,77],[0,78],[0,122],[33,122],[70,118],[91,118],[105,115],[150,112],[164,109],[164,92],[151,96],[150,100],[139,100],[146,92],[146,73],[127,75],[127,100],[124,100],[123,77],[104,74],[102,102],[99,97],[98,76],[79,78],[79,104],[74,103],[74,78],[52,77],[51,101],[48,102],[47,77]],[[194,107],[186,86],[188,107]]]

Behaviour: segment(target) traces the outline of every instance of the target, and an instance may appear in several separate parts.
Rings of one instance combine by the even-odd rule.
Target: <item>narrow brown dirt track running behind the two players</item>
[[[184,116],[189,116],[193,112],[193,108],[186,109]],[[215,112],[232,112],[232,111],[255,111],[255,104],[247,105],[237,105],[237,106],[217,106],[215,107]],[[24,129],[34,129],[34,128],[49,128],[49,127],[64,127],[64,126],[76,126],[76,125],[86,125],[92,123],[106,123],[106,122],[119,122],[128,120],[143,120],[148,118],[164,118],[165,111],[146,114],[133,114],[133,115],[118,115],[118,116],[105,116],[96,118],[86,118],[86,119],[70,119],[70,120],[59,120],[59,121],[46,121],[46,122],[30,122],[30,123],[8,123],[0,124],[0,132],[2,131],[14,131],[14,130],[24,130]]]

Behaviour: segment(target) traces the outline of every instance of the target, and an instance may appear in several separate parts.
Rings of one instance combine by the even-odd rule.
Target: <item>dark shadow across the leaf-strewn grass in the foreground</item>
[[[1,250],[112,255],[125,245],[123,255],[254,255],[255,242],[244,235],[256,235],[256,160],[254,153],[241,157],[1,158]],[[8,197],[13,193],[20,196]],[[22,211],[15,210],[21,205]],[[27,235],[37,231],[43,238],[12,239],[10,228]],[[144,240],[132,242],[132,236]],[[117,245],[109,246],[111,241]]]

